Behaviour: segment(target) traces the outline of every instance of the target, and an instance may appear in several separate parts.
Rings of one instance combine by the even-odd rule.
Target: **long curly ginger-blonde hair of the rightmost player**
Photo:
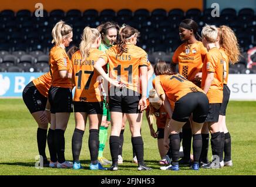
[[[220,37],[220,46],[224,48],[231,63],[237,63],[241,53],[234,31],[228,26],[221,25],[218,29],[218,37]]]

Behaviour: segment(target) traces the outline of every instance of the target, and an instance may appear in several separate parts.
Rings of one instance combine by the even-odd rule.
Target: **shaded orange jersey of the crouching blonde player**
[[[150,105],[150,111],[156,117],[156,126],[157,128],[164,128],[166,126],[166,120],[169,117],[168,113],[162,105],[158,110]]]

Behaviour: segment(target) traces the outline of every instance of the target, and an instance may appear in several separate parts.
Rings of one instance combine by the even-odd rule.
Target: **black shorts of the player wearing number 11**
[[[109,111],[122,113],[141,113],[138,110],[140,93],[124,88],[120,92],[115,92],[109,96]]]

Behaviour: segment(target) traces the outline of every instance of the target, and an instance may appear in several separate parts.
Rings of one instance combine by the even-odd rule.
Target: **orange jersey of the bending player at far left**
[[[33,84],[36,86],[36,89],[48,98],[48,91],[50,89],[50,82],[52,81],[52,77],[50,76],[50,72],[41,75],[40,77],[33,79]]]

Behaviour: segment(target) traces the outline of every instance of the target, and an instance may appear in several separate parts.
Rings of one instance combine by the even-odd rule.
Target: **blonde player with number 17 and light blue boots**
[[[74,96],[75,131],[72,137],[73,169],[80,169],[79,155],[87,119],[89,119],[90,169],[105,169],[97,161],[99,153],[99,126],[102,121],[103,96],[99,74],[93,65],[103,54],[98,50],[101,42],[97,29],[85,27],[79,50],[73,54],[69,66],[69,78],[75,82]]]

